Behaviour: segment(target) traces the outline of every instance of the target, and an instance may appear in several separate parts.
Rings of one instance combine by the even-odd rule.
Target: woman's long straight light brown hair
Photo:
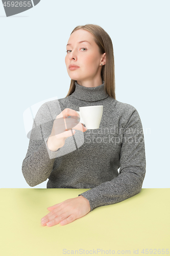
[[[115,96],[115,75],[114,75],[114,53],[113,53],[113,45],[112,40],[108,33],[98,25],[86,24],[84,26],[77,26],[72,32],[75,32],[78,29],[85,29],[89,31],[94,36],[94,41],[98,45],[100,49],[100,53],[106,53],[106,64],[102,67],[101,77],[102,81],[105,81],[105,92],[112,98],[116,99]],[[70,35],[71,35],[70,34]],[[75,81],[72,80],[70,82],[69,91],[67,96],[74,93],[76,86]],[[66,96],[66,97],[67,97]],[[65,97],[65,98],[66,98]]]

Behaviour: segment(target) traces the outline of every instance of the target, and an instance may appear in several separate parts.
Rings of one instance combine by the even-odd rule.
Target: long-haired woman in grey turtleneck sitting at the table
[[[78,26],[66,48],[70,89],[65,98],[40,107],[22,174],[30,186],[48,178],[47,188],[91,189],[48,207],[50,212],[41,219],[43,226],[65,225],[95,207],[126,200],[140,192],[145,176],[139,114],[132,105],[115,99],[111,38],[100,26]],[[103,105],[100,129],[87,130],[79,122],[76,111],[90,105]],[[81,135],[84,143],[80,146],[76,138]]]

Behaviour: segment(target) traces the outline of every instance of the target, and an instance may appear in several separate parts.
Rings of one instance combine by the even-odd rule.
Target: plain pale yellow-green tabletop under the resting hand
[[[0,255],[170,255],[170,188],[142,188],[67,225],[41,226],[47,207],[86,190],[1,188]]]

